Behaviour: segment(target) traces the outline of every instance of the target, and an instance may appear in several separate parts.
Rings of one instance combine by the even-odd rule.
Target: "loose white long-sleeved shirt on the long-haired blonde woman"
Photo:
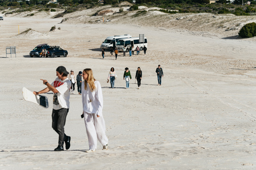
[[[103,96],[99,81],[94,81],[96,89],[91,91],[89,84],[86,83],[87,89],[84,89],[84,81],[82,82],[82,104],[83,111],[87,113],[102,116]]]

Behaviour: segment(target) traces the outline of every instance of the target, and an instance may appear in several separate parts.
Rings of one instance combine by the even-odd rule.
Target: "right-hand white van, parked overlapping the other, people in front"
[[[129,52],[129,46],[131,45],[134,46],[135,48],[139,46],[140,50],[143,50],[143,47],[148,48],[148,40],[145,37],[144,42],[140,43],[139,37],[135,38],[124,38],[124,39],[119,39],[116,43],[116,47],[118,51],[122,51],[123,47],[125,46],[126,52]]]

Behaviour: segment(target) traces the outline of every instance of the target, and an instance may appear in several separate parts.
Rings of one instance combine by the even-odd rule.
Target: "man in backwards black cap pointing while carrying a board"
[[[69,89],[71,82],[67,78],[68,72],[64,66],[59,66],[56,69],[56,78],[51,84],[47,80],[43,80],[43,83],[47,86],[45,89],[33,93],[35,95],[44,94],[52,91],[53,95],[53,109],[52,109],[52,128],[59,134],[58,147],[54,151],[62,151],[63,143],[65,142],[66,149],[70,148],[71,137],[67,136],[64,132],[64,126],[66,123],[66,117],[69,111]]]

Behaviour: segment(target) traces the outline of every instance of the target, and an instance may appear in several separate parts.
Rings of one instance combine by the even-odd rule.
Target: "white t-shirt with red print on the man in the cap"
[[[59,91],[53,95],[53,109],[69,108],[71,82],[68,78],[65,80],[56,78],[51,85]]]

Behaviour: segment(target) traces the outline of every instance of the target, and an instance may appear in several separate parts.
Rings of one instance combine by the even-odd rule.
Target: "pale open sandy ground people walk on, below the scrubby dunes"
[[[128,23],[70,23],[51,18],[5,17],[0,22],[0,169],[255,169],[254,39],[223,38],[210,30],[156,27]],[[28,34],[18,35],[31,28]],[[49,32],[56,25],[60,30]],[[107,36],[129,33],[148,39],[146,55],[117,60],[99,46]],[[236,33],[233,35],[236,36]],[[68,50],[68,57],[30,58],[36,45]],[[5,58],[5,47],[16,46],[17,57]],[[162,65],[162,86],[155,69]],[[68,151],[54,152],[58,135],[51,128],[51,109],[22,98],[22,87],[45,88],[39,79],[55,79],[66,66],[77,74],[91,68],[100,81],[109,150],[89,149],[82,101],[70,96],[65,132]],[[135,71],[143,72],[141,89]],[[110,67],[118,78],[106,82]],[[133,79],[125,89],[124,68]],[[52,103],[52,93],[46,94]]]

